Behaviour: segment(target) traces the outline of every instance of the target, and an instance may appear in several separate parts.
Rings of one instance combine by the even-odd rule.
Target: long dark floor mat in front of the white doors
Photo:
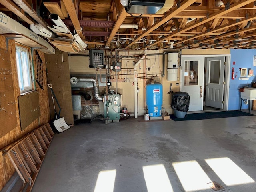
[[[253,114],[242,111],[220,111],[220,112],[208,112],[208,113],[191,113],[186,114],[185,118],[177,118],[174,114],[170,115],[170,118],[174,121],[190,121],[201,119],[215,119],[225,117],[240,117],[240,116],[252,116]]]

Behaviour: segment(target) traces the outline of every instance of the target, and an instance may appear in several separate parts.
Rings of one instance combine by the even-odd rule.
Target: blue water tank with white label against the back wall
[[[163,104],[163,86],[158,82],[146,85],[146,104],[150,117],[160,117]]]

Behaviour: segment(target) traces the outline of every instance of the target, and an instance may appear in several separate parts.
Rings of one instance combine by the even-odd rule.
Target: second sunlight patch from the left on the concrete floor
[[[143,173],[148,192],[173,192],[163,164],[143,166]]]

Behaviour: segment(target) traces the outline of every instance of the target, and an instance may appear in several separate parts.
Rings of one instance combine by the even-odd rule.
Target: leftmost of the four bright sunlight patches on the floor
[[[98,174],[97,182],[94,192],[113,192],[116,179],[116,169],[100,171]]]

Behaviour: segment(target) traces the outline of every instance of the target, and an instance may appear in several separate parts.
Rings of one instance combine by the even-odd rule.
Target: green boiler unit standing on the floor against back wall
[[[121,94],[104,94],[104,118],[105,123],[119,122],[120,105],[122,104]]]

